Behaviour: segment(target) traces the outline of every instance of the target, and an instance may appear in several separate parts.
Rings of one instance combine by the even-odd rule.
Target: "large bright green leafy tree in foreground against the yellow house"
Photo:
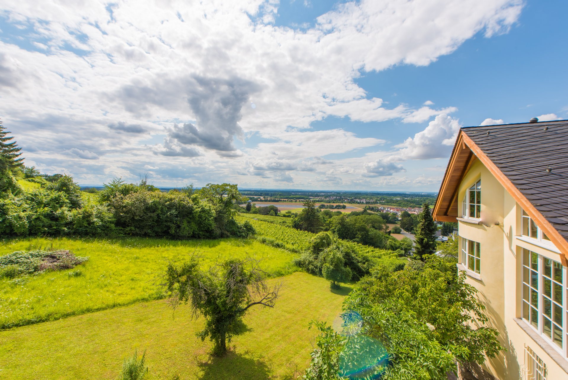
[[[403,271],[381,268],[365,277],[343,305],[344,310],[358,311],[362,329],[340,336],[316,325],[323,328],[304,379],[341,378],[341,357],[352,350],[349,339],[370,338],[384,345],[389,361],[369,369],[383,380],[446,380],[449,372],[457,371],[456,362],[483,364],[486,357],[495,357],[503,349],[498,332],[484,326],[485,307],[465,278],[465,273],[457,275],[455,260],[435,255]],[[365,346],[355,348],[353,357],[358,360],[357,353],[364,356]]]

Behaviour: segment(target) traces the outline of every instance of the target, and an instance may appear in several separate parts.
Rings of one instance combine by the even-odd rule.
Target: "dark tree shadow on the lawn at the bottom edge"
[[[203,371],[200,380],[265,380],[272,373],[270,366],[260,358],[232,350],[223,357],[211,356],[198,365]]]

